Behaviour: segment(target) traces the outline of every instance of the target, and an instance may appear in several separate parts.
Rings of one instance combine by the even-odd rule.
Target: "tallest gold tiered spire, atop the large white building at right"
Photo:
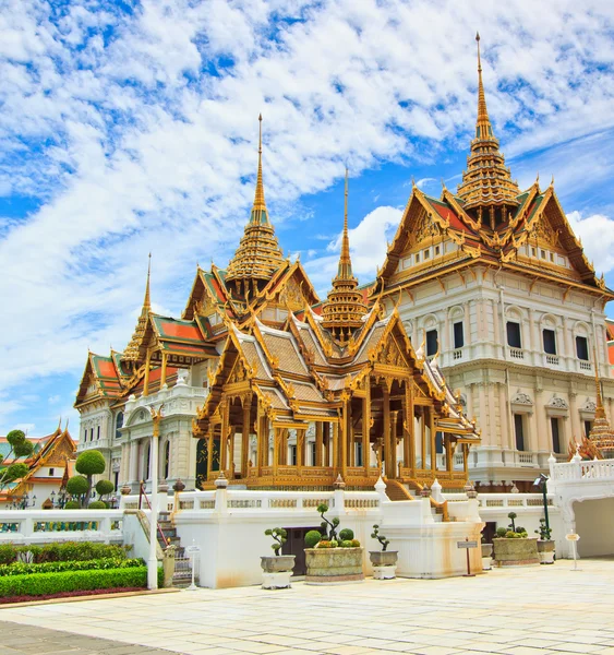
[[[506,224],[510,212],[518,206],[517,196],[520,189],[511,179],[509,168],[505,166],[505,157],[498,150],[498,140],[493,132],[482,79],[479,33],[475,35],[475,41],[478,44],[478,119],[475,136],[471,141],[471,153],[467,157],[467,170],[462,172],[457,195],[466,211],[475,211],[479,223],[483,221],[491,229],[495,229],[497,225]]]

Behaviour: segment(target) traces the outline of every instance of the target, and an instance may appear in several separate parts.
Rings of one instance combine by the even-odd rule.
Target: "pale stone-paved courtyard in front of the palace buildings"
[[[112,650],[98,641],[89,652],[117,655],[144,653],[140,646],[206,655],[614,654],[614,561],[571,567],[562,560],[472,579],[200,590],[4,608],[0,619],[111,639],[120,642]],[[22,626],[1,626],[3,642]],[[59,651],[40,644],[25,652]],[[14,652],[0,646],[0,655]]]

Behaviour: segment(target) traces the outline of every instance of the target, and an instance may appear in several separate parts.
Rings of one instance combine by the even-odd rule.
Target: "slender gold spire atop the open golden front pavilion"
[[[322,326],[330,330],[333,338],[341,346],[345,346],[350,341],[352,333],[362,326],[362,318],[368,311],[362,294],[357,287],[358,279],[352,273],[348,235],[348,169],[346,168],[341,253],[337,275],[333,278],[333,289],[322,306]]]

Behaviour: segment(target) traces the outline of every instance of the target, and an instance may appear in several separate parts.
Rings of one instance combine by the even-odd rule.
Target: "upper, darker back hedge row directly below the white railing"
[[[35,563],[69,562],[96,560],[104,558],[125,559],[130,547],[115,544],[96,544],[93,541],[63,541],[45,546],[16,546],[0,544],[0,564],[17,561],[19,553],[32,552]]]

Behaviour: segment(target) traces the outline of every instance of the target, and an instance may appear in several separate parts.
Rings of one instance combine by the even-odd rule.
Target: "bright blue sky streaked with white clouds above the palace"
[[[552,176],[614,287],[610,0],[0,0],[0,434],[70,418],[87,349],[130,340],[225,266],[249,217],[263,115],[269,216],[326,294],[342,227],[382,265],[411,180],[460,180],[477,114],[513,176]],[[610,315],[614,308],[607,309]]]

